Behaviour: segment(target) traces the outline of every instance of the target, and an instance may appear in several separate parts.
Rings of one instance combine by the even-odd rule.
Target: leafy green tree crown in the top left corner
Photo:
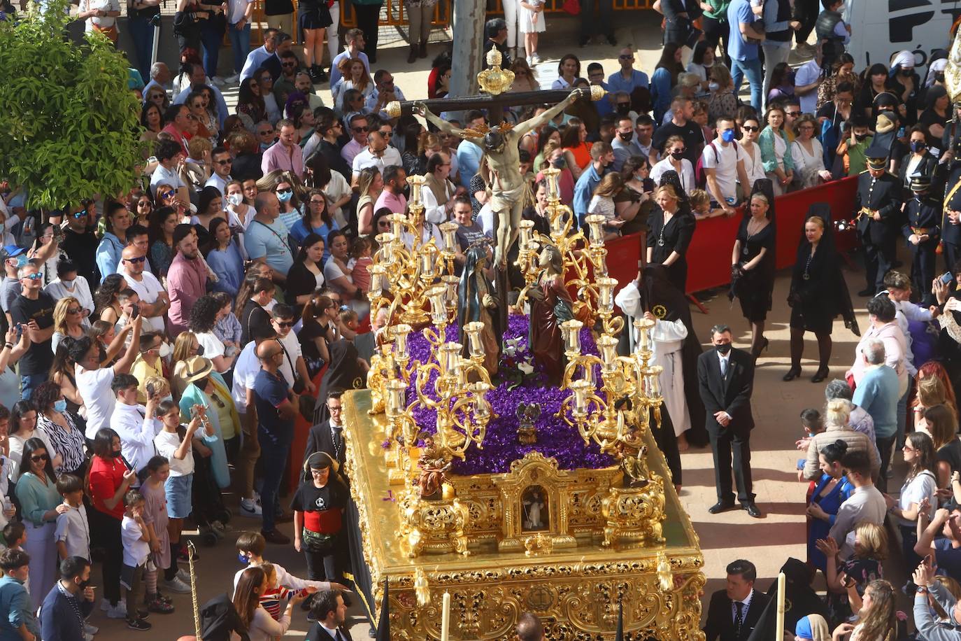
[[[99,34],[67,38],[67,0],[30,7],[0,22],[0,177],[48,210],[129,189],[142,156],[126,57]]]

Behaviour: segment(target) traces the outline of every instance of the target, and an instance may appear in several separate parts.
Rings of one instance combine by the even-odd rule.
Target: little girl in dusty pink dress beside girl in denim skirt
[[[158,572],[170,567],[170,533],[167,531],[169,517],[167,516],[167,495],[164,487],[170,476],[170,462],[165,456],[154,456],[147,461],[147,478],[140,486],[143,494],[143,521],[150,529],[150,560],[153,568],[144,572],[146,583],[147,610],[160,614],[174,611],[170,600],[160,595],[157,589]]]

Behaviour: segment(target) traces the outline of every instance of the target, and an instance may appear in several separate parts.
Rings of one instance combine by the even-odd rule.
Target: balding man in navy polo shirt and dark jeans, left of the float
[[[260,462],[263,464],[263,487],[260,505],[263,525],[260,533],[270,543],[288,545],[290,539],[277,530],[278,492],[283,468],[290,454],[297,415],[297,395],[280,373],[283,346],[277,340],[264,340],[257,346],[260,371],[254,381],[254,403],[257,407],[257,438]]]

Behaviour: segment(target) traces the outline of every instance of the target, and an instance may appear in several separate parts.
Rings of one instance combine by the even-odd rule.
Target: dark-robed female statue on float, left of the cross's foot
[[[468,248],[464,271],[460,274],[460,286],[457,287],[457,324],[460,326],[460,342],[466,355],[470,346],[464,326],[474,321],[483,323],[483,330],[480,331],[480,342],[484,349],[483,366],[488,374],[494,376],[497,374],[497,363],[501,357],[504,328],[501,327],[501,315],[495,313],[498,303],[491,293],[494,285],[484,273],[486,267],[486,246],[475,245]]]

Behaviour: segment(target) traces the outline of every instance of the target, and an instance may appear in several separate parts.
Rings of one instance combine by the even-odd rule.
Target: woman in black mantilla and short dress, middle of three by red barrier
[[[748,211],[741,219],[730,257],[730,294],[741,302],[741,312],[751,323],[751,354],[760,356],[768,346],[764,321],[775,288],[775,208],[771,181],[754,182]]]

